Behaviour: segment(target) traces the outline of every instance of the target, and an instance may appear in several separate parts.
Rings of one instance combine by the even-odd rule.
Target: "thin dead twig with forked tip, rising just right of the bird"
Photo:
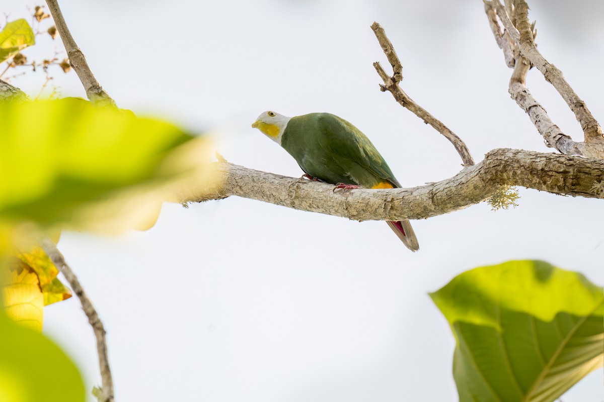
[[[384,28],[377,24],[377,22],[374,22],[371,25],[371,29],[376,35],[377,41],[382,46],[382,50],[384,51],[384,54],[388,58],[388,61],[390,61],[390,64],[393,68],[393,76],[390,77],[384,71],[379,61],[373,63],[377,74],[379,74],[384,81],[383,85],[380,84],[382,92],[389,91],[400,105],[415,113],[415,115],[422,119],[426,124],[431,125],[434,127],[434,130],[438,131],[440,134],[443,134],[443,136],[445,136],[445,138],[448,139],[457,150],[461,160],[464,163],[464,166],[474,165],[474,159],[472,159],[472,155],[470,154],[470,151],[467,149],[467,146],[463,140],[453,133],[453,131],[449,130],[449,128],[439,121],[439,119],[436,119],[423,107],[416,104],[416,102],[414,102],[402,89],[400,89],[399,82],[403,79],[403,75],[402,64],[400,64],[399,57],[396,55],[392,43],[390,43],[390,40],[388,40]]]

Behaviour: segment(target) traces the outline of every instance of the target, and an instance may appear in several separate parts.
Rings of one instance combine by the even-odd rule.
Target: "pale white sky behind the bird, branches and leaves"
[[[2,0],[11,19],[27,1]],[[510,99],[512,73],[483,2],[60,0],[98,80],[123,108],[211,129],[230,162],[300,177],[251,123],[264,110],[329,111],[364,131],[403,186],[451,177],[460,158],[440,134],[381,93],[385,28],[403,89],[462,137],[551,151]],[[537,42],[604,119],[604,6],[529,1]],[[597,9],[596,9],[597,8]],[[26,54],[51,54],[39,39]],[[44,49],[48,49],[44,52]],[[62,96],[85,96],[54,74]],[[41,74],[12,81],[36,95]],[[528,87],[582,138],[538,71]],[[519,206],[479,204],[413,223],[410,253],[383,222],[347,221],[241,198],[165,205],[146,232],[64,233],[60,250],[108,331],[118,401],[453,401],[454,338],[428,292],[475,266],[543,259],[604,283],[602,201],[521,189]],[[44,332],[100,383],[92,331],[74,297],[45,310]],[[562,398],[602,401],[602,370]],[[91,398],[92,400],[92,398]]]

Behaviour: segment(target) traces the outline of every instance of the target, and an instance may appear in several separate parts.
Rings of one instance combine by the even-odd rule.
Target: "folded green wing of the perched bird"
[[[335,154],[358,163],[394,187],[400,187],[399,181],[394,178],[382,155],[361,130],[330,113],[321,113],[319,121],[321,129],[330,138],[328,146]]]

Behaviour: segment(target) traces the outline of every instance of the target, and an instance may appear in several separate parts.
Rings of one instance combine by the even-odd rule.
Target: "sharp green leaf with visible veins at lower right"
[[[582,274],[510,261],[430,294],[457,345],[460,402],[554,401],[604,364],[604,293]]]

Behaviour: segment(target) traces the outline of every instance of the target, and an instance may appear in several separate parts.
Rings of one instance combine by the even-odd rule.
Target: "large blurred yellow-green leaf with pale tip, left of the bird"
[[[123,230],[209,179],[206,139],[83,99],[0,104],[0,131],[0,221]]]

